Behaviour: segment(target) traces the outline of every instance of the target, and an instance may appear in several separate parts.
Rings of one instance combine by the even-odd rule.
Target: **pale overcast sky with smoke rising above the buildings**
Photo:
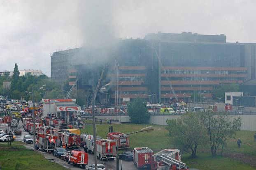
[[[150,32],[225,34],[256,42],[256,0],[0,0],[0,71],[42,69],[50,53]],[[104,41],[102,41],[104,42]]]

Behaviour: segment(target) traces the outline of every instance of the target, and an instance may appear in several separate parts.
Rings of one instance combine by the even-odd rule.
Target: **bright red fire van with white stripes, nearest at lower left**
[[[72,150],[68,156],[67,163],[72,163],[73,166],[82,165],[82,168],[85,168],[85,166],[88,165],[88,154],[83,151]]]

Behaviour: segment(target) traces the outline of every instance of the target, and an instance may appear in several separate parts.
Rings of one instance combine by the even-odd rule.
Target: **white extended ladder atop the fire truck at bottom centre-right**
[[[178,170],[181,170],[184,168],[188,169],[188,167],[186,166],[186,163],[177,161],[176,159],[171,157],[171,156],[175,155],[177,152],[179,152],[178,149],[164,149],[164,150],[154,154],[153,157],[155,158],[155,161],[162,161],[170,166],[176,165]]]

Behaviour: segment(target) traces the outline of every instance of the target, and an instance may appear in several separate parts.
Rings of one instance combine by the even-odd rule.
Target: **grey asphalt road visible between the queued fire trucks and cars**
[[[23,142],[23,136],[24,135],[30,135],[30,134],[28,134],[27,131],[22,129],[21,135],[20,136],[16,136],[16,141]],[[33,149],[33,144],[25,144],[24,143],[24,146],[27,147],[28,149]],[[83,150],[83,148],[79,148],[79,149]],[[57,158],[57,157],[55,157],[55,156],[53,156],[51,154],[48,154],[47,152],[41,152],[41,151],[37,151],[37,152],[40,152],[49,161],[58,163],[59,165],[62,165],[65,168],[70,168],[71,170],[81,169],[81,168],[78,168],[78,167],[73,167],[72,165],[68,164],[67,162],[65,162],[65,161],[63,161],[63,160],[61,160],[61,159],[59,159],[59,158]],[[88,157],[89,157],[89,159],[88,159],[88,165],[86,166],[86,169],[88,168],[89,165],[94,164],[94,157],[93,157],[93,155],[88,154]],[[105,160],[104,162],[102,162],[99,159],[97,159],[97,161],[98,161],[98,163],[104,164],[108,169],[111,169],[111,168],[113,170],[116,169],[116,160],[114,160],[114,161],[107,161],[107,160]],[[123,170],[137,170],[135,165],[133,165],[133,161],[123,161],[123,160],[120,160],[119,163],[120,163],[120,166],[121,166],[121,163],[122,163]]]

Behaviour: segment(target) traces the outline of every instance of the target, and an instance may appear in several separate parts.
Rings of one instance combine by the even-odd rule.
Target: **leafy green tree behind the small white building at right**
[[[220,84],[216,85],[212,89],[212,96],[214,99],[222,98],[222,100],[225,100],[225,92],[238,92],[239,86],[235,83],[232,84]]]

